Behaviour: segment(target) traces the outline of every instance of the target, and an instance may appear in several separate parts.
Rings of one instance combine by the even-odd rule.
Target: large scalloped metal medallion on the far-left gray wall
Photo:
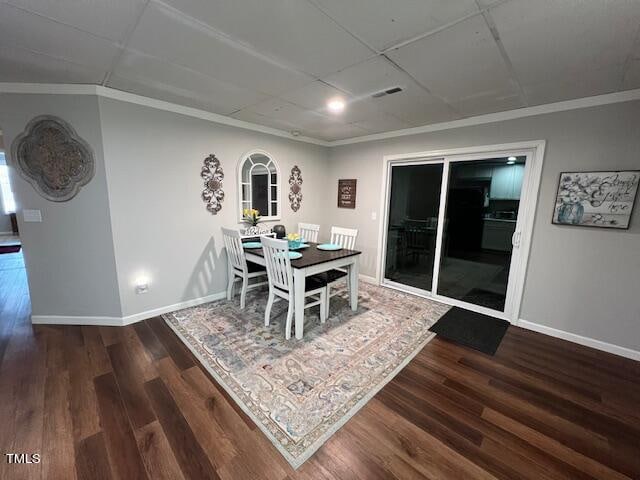
[[[13,141],[11,152],[22,178],[53,202],[71,200],[95,173],[91,147],[58,117],[35,117]]]

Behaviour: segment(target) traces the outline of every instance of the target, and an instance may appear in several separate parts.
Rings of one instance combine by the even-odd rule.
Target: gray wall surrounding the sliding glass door
[[[640,169],[640,102],[332,148],[330,197],[357,178],[358,198],[355,210],[329,202],[327,221],[360,229],[361,272],[373,276],[383,155],[525,140],[547,148],[520,318],[640,350],[640,205],[627,231],[551,224],[560,172]]]

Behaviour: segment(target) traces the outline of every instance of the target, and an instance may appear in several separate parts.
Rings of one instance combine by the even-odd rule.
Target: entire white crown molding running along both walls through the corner
[[[286,138],[288,140],[311,143],[313,145],[320,145],[323,147],[338,147],[341,145],[351,145],[355,143],[371,142],[375,140],[385,140],[389,138],[404,137],[407,135],[417,135],[420,133],[438,132],[441,130],[470,127],[474,125],[482,125],[485,123],[515,120],[517,118],[533,117],[536,115],[544,115],[547,113],[564,112],[568,110],[577,110],[581,108],[597,107],[601,105],[610,105],[614,103],[640,100],[640,88],[638,88],[634,90],[626,90],[623,92],[607,93],[604,95],[583,97],[574,100],[565,100],[562,102],[548,103],[545,105],[537,105],[535,107],[525,107],[515,110],[507,110],[504,112],[488,113],[486,115],[478,115],[475,117],[468,117],[460,120],[453,120],[450,122],[433,123],[430,125],[423,125],[421,127],[404,128],[402,130],[394,130],[391,132],[376,133],[373,135],[364,135],[361,137],[353,137],[345,140],[334,140],[328,142],[312,137],[294,137],[293,135],[291,135],[291,133],[285,130],[265,127],[264,125],[245,122],[244,120],[237,120],[225,115],[207,112],[206,110],[185,107],[177,103],[165,102],[164,100],[144,97],[142,95],[124,92],[122,90],[116,90],[114,88],[103,87],[100,85],[0,82],[0,93],[97,95],[100,97],[120,100],[122,102],[134,103],[136,105],[142,105],[158,110],[178,113],[181,115],[200,118],[202,120],[208,120],[210,122],[215,122],[222,125],[243,128],[245,130],[253,130],[255,132],[266,133],[268,135],[275,135],[277,137]]]

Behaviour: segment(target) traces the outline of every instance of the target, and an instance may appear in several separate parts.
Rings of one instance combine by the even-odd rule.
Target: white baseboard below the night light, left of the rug
[[[183,308],[195,307],[203,303],[215,302],[222,300],[227,296],[226,292],[218,292],[206,297],[194,298],[184,302],[174,303],[164,307],[146,310],[133,315],[124,317],[82,317],[82,316],[61,316],[61,315],[32,315],[31,323],[47,324],[47,325],[97,325],[103,327],[123,327],[132,323],[146,320],[147,318],[157,317],[164,313],[175,312]]]

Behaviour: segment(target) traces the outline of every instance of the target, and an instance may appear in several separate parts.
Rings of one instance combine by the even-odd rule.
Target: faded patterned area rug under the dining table
[[[216,381],[298,468],[433,337],[448,306],[361,284],[352,312],[346,293],[320,323],[305,311],[302,340],[284,338],[287,303],[264,326],[266,292],[164,315]]]

